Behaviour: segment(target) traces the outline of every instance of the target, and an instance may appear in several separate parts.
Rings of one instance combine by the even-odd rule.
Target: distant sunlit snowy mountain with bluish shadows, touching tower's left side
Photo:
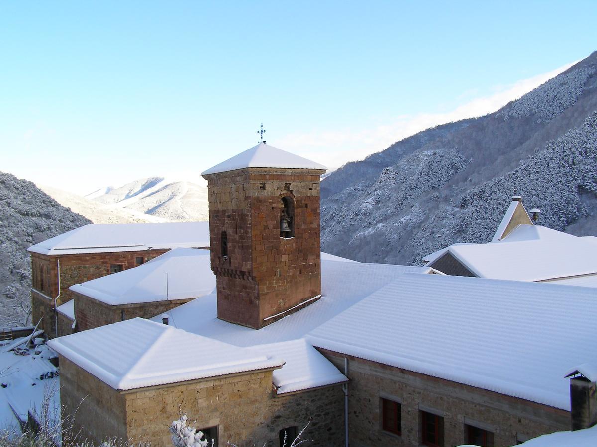
[[[105,188],[85,198],[167,221],[205,221],[209,216],[207,188],[162,177],[139,179],[119,188]]]

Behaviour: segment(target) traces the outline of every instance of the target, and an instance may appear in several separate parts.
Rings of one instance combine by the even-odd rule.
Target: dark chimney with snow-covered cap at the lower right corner
[[[583,365],[581,365],[582,367]],[[582,430],[597,424],[597,387],[575,368],[566,377],[570,377],[570,429]],[[580,375],[577,375],[580,374]],[[593,374],[589,374],[593,375]],[[571,377],[576,376],[576,377]],[[594,378],[594,377],[592,377]]]

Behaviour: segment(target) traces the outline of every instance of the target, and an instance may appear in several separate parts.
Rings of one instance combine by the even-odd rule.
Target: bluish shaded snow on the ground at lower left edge
[[[0,347],[0,429],[19,432],[28,411],[42,413],[45,397],[51,414],[59,414],[60,380],[49,360],[56,354],[46,344],[17,349],[20,355],[4,352],[12,342]]]

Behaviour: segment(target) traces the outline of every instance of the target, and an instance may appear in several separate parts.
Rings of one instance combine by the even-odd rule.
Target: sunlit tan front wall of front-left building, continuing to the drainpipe
[[[278,447],[279,430],[296,426],[300,431],[310,418],[309,445],[342,446],[343,396],[336,386],[276,397],[271,371],[134,390],[125,393],[128,436],[170,445],[165,427],[178,418],[180,408],[196,429],[218,426],[220,446],[230,441]]]

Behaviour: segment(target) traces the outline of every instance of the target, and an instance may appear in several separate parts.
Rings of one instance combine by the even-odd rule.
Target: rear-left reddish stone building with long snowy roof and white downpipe
[[[209,248],[208,222],[90,224],[29,247],[34,324],[41,320],[45,334],[56,336],[56,308],[73,298],[71,285],[133,268],[175,247]]]

